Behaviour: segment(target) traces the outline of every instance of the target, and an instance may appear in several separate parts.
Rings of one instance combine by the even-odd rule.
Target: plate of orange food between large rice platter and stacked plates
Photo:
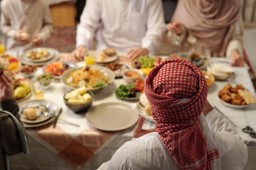
[[[75,62],[68,62],[68,61],[59,61],[59,62],[52,62],[50,64],[45,64],[43,66],[44,73],[52,73],[55,78],[60,78],[60,76],[70,68],[77,67]]]

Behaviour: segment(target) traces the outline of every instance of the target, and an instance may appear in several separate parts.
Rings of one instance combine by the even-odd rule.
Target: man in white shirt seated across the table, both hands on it
[[[130,61],[140,55],[155,55],[165,30],[161,0],[87,0],[71,57],[83,60],[96,31],[97,50],[115,48]]]

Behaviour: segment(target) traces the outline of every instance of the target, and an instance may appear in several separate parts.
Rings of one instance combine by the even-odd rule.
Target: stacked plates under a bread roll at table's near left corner
[[[49,100],[26,100],[19,103],[19,114],[20,120],[23,122],[25,128],[33,128],[38,126],[43,126],[54,121],[54,117],[51,117],[48,113],[57,114],[58,106]],[[25,108],[35,108],[37,113],[37,118],[35,120],[29,120],[23,110]]]

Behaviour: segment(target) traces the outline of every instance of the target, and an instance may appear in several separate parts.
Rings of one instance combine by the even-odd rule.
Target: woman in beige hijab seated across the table
[[[168,24],[176,31],[181,52],[205,57],[231,58],[232,66],[243,63],[243,22],[238,0],[179,0]],[[175,36],[171,36],[175,44]]]

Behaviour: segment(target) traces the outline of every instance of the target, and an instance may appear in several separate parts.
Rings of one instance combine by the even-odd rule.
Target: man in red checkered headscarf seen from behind
[[[144,85],[156,132],[142,130],[140,117],[134,138],[98,170],[245,168],[247,146],[208,103],[206,80],[195,65],[166,60],[150,71]]]

